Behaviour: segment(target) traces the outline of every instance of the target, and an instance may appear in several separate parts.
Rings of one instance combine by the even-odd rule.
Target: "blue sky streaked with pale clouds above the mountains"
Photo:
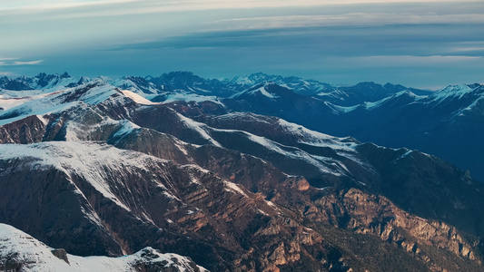
[[[484,83],[484,1],[0,0],[0,75]]]

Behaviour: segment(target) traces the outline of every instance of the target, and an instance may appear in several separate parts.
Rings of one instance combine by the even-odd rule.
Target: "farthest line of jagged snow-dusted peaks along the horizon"
[[[103,80],[107,83],[133,91],[142,91],[146,94],[170,94],[170,93],[193,93],[202,96],[229,97],[238,92],[245,91],[261,83],[275,83],[291,89],[293,92],[307,96],[330,96],[341,100],[342,103],[353,104],[351,100],[360,102],[378,101],[390,94],[409,90],[419,95],[430,94],[430,91],[407,88],[402,85],[387,83],[358,83],[354,86],[333,86],[329,83],[321,83],[315,80],[304,80],[300,77],[282,77],[265,73],[252,73],[244,77],[230,79],[204,79],[191,72],[163,73],[159,77],[124,76],[120,79],[100,77],[89,79],[84,76],[72,77],[68,73],[46,74],[39,73],[34,77],[20,76],[16,78],[0,78],[0,88],[13,91],[52,89],[56,87],[74,87],[93,80]],[[348,100],[351,98],[351,100]]]

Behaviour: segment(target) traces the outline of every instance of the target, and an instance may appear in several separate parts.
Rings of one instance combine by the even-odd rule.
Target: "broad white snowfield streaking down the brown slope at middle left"
[[[106,182],[105,172],[118,175],[131,172],[147,172],[158,159],[136,151],[123,151],[102,142],[55,141],[35,144],[2,144],[0,160],[26,158],[36,167],[62,170],[70,175],[83,177],[105,198],[112,199],[118,206],[130,210],[123,199],[118,199],[111,185]]]

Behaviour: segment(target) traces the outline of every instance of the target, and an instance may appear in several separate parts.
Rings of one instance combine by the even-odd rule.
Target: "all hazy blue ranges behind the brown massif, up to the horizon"
[[[484,87],[478,83],[430,92],[391,83],[332,86],[264,73],[224,80],[189,72],[121,79],[40,73],[32,78],[0,78],[0,88],[51,92],[92,81],[138,93],[152,102],[212,101],[228,111],[277,116],[331,135],[425,151],[484,181],[480,156],[484,145],[475,136],[484,128]]]

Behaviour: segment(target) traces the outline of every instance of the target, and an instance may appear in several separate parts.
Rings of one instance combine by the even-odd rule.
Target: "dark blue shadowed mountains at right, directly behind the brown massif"
[[[429,152],[484,181],[484,144],[477,137],[484,132],[481,84],[449,86],[429,95],[401,91],[352,106],[273,83],[250,90],[222,103],[232,111],[278,116],[331,135]]]

